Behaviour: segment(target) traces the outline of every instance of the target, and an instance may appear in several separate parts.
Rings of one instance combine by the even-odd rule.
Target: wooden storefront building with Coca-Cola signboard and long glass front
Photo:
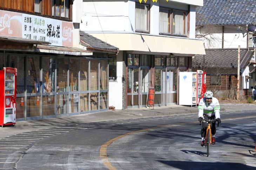
[[[108,55],[118,48],[80,42],[81,3],[1,3],[0,69],[18,70],[16,121],[108,110]]]

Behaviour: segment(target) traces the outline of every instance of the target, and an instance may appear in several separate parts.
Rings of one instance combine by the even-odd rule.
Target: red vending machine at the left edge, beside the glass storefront
[[[0,125],[16,123],[17,69],[5,67],[0,70]]]

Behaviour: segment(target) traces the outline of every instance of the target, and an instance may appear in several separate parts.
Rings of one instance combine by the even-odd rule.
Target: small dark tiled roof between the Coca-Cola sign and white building
[[[89,35],[84,31],[80,31],[80,43],[85,47],[89,47],[90,49],[94,48],[95,50],[118,50],[117,47],[114,47],[113,45],[110,45],[92,35]]]

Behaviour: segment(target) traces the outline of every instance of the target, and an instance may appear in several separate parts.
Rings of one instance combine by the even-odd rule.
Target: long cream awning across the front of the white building
[[[138,54],[180,56],[204,55],[205,50],[202,40],[187,37],[169,37],[133,33],[88,33],[101,39],[120,51],[136,51]]]

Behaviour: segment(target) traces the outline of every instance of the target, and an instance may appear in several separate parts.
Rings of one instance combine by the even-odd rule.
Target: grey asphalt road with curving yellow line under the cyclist
[[[255,113],[222,112],[209,157],[200,146],[201,126],[194,113],[50,128],[33,136],[35,132],[21,134],[31,135],[35,143],[22,153],[18,163],[6,161],[2,169],[12,165],[18,170],[255,169]],[[10,141],[26,144],[22,136],[15,137]],[[13,152],[8,159],[19,154]]]

